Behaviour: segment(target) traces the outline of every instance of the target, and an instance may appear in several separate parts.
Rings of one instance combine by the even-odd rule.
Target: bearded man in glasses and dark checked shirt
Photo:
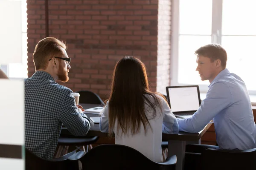
[[[85,136],[91,123],[82,117],[73,92],[55,81],[67,82],[70,58],[66,45],[47,37],[33,54],[35,74],[25,79],[25,147],[36,155],[52,159],[62,124],[75,136]]]

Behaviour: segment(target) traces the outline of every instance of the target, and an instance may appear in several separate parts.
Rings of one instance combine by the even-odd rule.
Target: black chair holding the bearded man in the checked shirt
[[[25,151],[26,170],[71,170],[78,169],[78,164],[67,161],[67,158],[76,153],[75,151],[67,153],[56,159],[41,158],[30,150]]]

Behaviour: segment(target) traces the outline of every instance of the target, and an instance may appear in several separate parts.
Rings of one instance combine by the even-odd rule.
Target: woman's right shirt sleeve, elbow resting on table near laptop
[[[172,113],[168,103],[162,99],[163,106],[163,125],[162,132],[168,134],[177,134],[179,132],[179,125]]]

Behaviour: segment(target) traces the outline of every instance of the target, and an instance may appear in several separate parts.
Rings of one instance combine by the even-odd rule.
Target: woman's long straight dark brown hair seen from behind
[[[151,102],[145,94],[153,97]],[[135,57],[123,57],[115,66],[112,79],[111,94],[109,98],[109,134],[113,131],[117,121],[117,131],[119,128],[122,134],[137,134],[140,125],[143,124],[145,134],[149,119],[145,115],[145,103],[153,109],[150,119],[156,117],[156,107],[160,105],[160,96],[157,92],[151,92],[148,88],[148,77],[146,68],[140,59]],[[162,108],[162,105],[160,105]]]

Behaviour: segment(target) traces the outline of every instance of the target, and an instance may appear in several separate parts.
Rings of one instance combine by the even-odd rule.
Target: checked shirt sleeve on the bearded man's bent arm
[[[90,120],[79,113],[72,92],[64,99],[60,121],[74,136],[85,136],[91,126]]]

